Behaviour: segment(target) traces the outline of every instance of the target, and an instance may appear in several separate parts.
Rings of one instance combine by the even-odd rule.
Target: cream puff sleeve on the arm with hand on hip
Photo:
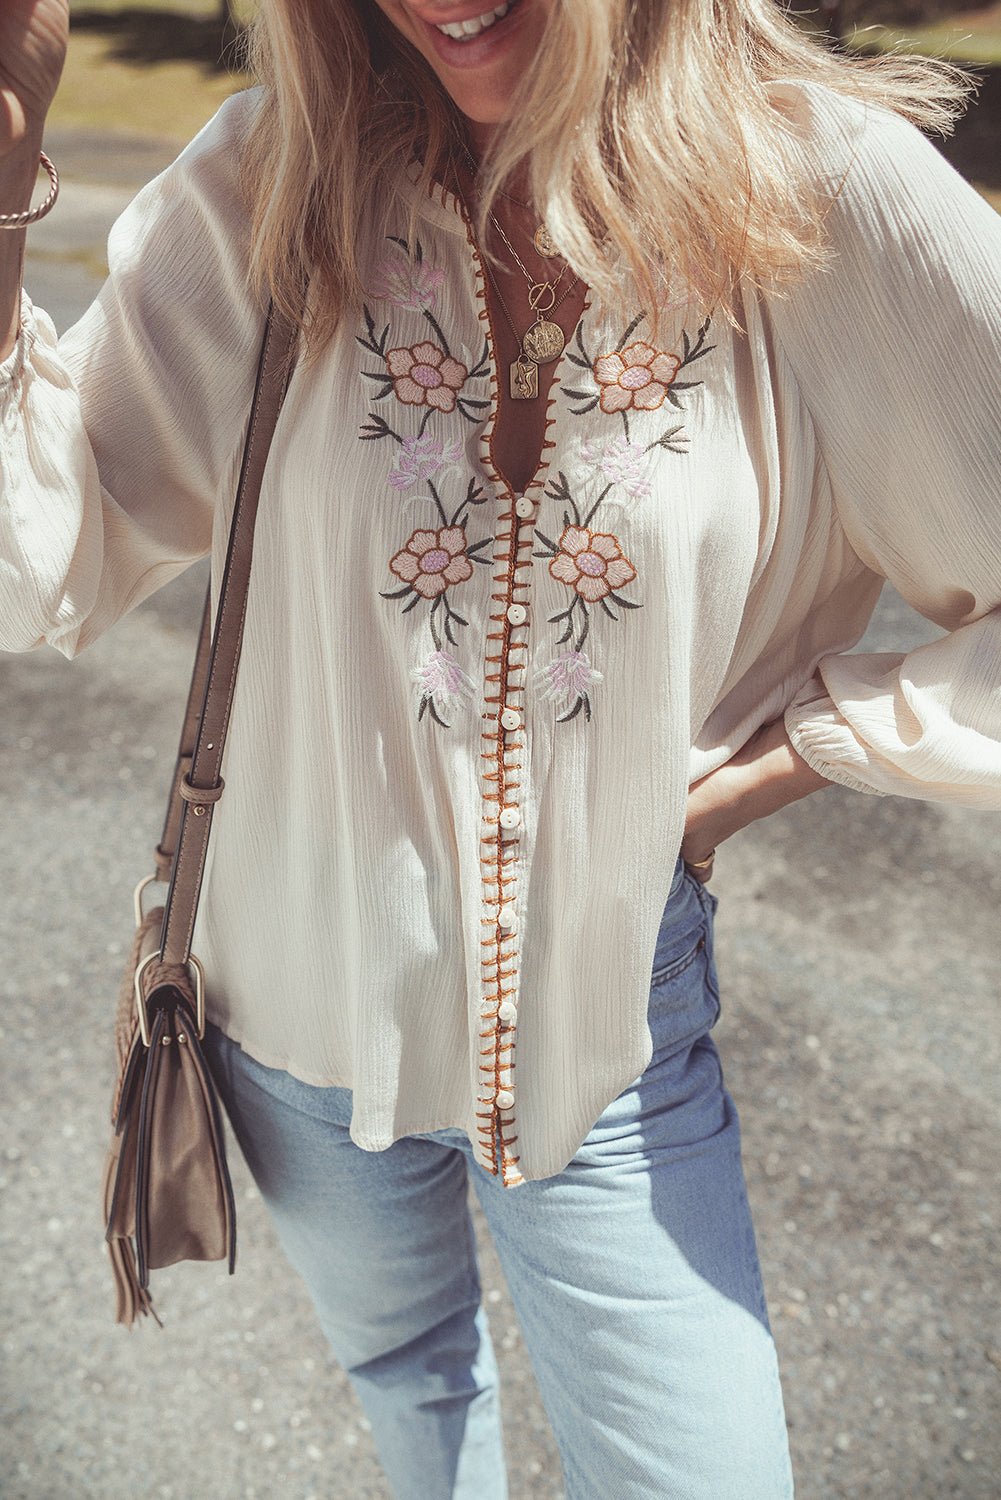
[[[947,634],[824,657],[786,728],[830,780],[1001,807],[1001,216],[896,116],[803,90],[794,117],[839,166],[776,339],[851,546]]]

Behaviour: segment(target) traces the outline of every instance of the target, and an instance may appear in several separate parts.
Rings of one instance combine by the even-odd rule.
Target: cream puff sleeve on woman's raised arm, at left
[[[0,650],[72,656],[210,548],[263,327],[239,188],[252,108],[231,99],[138,195],[60,344],[24,298],[0,366]]]

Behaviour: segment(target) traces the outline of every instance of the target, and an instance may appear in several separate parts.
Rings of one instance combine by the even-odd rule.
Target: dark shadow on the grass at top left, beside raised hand
[[[212,72],[231,72],[242,63],[242,32],[218,15],[183,10],[74,10],[74,32],[108,38],[108,56],[120,63],[200,63]]]

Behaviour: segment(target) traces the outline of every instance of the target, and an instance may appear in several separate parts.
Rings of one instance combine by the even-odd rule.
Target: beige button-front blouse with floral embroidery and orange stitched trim
[[[353,1136],[462,1126],[507,1182],[650,1058],[689,780],[786,712],[827,777],[1001,806],[1001,220],[909,126],[779,90],[836,189],[828,267],[585,310],[522,496],[459,206],[396,186],[365,308],[269,464],[195,936],[210,1016],[354,1090]],[[219,560],[261,309],[230,100],[2,378],[0,646],[66,654]],[[948,634],[849,654],[888,578]]]

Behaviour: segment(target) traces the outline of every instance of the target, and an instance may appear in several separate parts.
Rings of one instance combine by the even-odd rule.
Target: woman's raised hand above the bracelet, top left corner
[[[69,0],[0,0],[0,158],[35,150],[69,34]]]

